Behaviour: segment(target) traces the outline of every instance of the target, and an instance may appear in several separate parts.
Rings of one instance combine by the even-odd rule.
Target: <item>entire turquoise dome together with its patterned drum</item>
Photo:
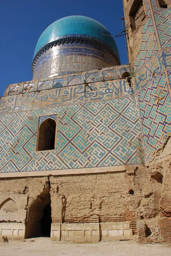
[[[110,35],[105,26],[89,17],[55,21],[37,42],[33,79],[119,65],[117,45]]]

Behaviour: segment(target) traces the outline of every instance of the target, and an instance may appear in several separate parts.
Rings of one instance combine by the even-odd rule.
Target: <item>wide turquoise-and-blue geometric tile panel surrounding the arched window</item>
[[[39,116],[56,114],[56,150],[36,151]],[[0,118],[0,172],[144,163],[136,97],[7,113]]]

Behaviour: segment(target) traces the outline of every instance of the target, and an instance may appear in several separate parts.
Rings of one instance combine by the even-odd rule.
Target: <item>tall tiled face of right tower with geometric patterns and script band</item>
[[[144,0],[144,4],[149,15],[149,1]],[[170,84],[167,83],[170,71],[167,75],[165,73],[171,69],[171,48],[168,48],[171,47],[171,11],[159,8],[156,0],[150,4],[154,11],[154,24],[150,15],[145,22],[142,46],[135,62],[146,162],[155,158],[155,152],[171,133],[171,95]],[[159,51],[158,45],[162,50]]]

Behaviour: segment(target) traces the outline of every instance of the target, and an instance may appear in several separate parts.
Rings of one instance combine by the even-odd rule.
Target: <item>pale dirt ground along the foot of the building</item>
[[[32,241],[34,240],[34,241]],[[54,242],[40,237],[23,241],[0,243],[2,256],[171,256],[171,248],[143,245],[134,241],[100,243]]]

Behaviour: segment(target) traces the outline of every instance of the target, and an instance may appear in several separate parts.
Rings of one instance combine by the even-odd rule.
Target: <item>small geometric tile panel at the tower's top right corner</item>
[[[154,17],[161,47],[171,47],[171,11],[165,9],[164,11],[156,12]]]

